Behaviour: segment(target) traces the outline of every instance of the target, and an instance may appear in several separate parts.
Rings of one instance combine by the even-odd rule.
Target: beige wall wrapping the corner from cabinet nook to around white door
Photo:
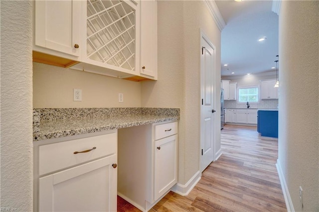
[[[180,107],[178,183],[199,171],[199,28],[216,47],[216,93],[220,90],[220,31],[203,1],[158,1],[158,82],[142,83],[142,106]],[[219,100],[219,96],[216,96]],[[216,108],[220,107],[217,101]],[[215,119],[220,149],[220,115]]]

